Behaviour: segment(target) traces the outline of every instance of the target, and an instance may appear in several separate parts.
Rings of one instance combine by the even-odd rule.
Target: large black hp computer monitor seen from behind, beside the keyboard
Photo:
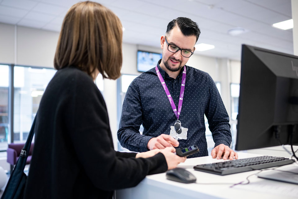
[[[297,56],[242,45],[237,118],[236,150],[298,144]]]

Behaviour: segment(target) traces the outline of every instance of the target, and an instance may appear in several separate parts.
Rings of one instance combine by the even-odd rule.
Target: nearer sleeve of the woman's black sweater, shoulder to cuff
[[[116,152],[113,148],[106,105],[97,86],[89,77],[76,77],[70,99],[69,137],[74,154],[95,187],[115,190],[134,187],[148,174],[167,170],[163,154],[134,158],[135,153]],[[134,156],[134,157],[133,157]]]

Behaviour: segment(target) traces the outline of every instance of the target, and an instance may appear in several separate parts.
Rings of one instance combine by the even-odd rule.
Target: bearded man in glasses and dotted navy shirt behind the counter
[[[215,142],[212,157],[238,158],[229,147],[229,117],[214,81],[208,73],[185,65],[199,35],[197,23],[189,18],[178,17],[168,24],[166,34],[161,36],[162,59],[156,68],[135,78],[126,92],[118,130],[122,146],[143,152],[195,144],[200,152],[189,157],[207,156],[205,114]],[[172,137],[178,130],[173,131],[176,123],[181,126],[178,124],[179,135],[188,129],[187,137],[178,141]]]

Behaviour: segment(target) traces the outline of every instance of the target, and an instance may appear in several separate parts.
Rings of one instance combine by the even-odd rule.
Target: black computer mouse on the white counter
[[[173,180],[179,183],[195,183],[196,177],[183,168],[175,168],[166,172],[168,180]]]

